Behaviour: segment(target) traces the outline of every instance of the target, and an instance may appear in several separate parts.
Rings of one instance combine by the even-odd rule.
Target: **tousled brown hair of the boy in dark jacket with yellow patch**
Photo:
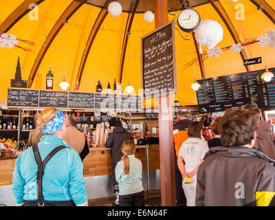
[[[223,146],[250,144],[258,127],[249,111],[234,109],[221,118],[221,142]]]

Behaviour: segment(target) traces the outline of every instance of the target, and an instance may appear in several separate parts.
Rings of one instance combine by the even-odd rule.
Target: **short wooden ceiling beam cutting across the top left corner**
[[[28,14],[32,10],[31,5],[36,4],[39,5],[45,0],[25,0],[21,5],[19,5],[0,25],[0,32],[5,33],[12,28],[13,25],[17,23],[20,19],[22,19],[25,14]]]

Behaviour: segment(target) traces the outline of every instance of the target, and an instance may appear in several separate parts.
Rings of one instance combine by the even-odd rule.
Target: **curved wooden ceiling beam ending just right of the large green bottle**
[[[103,8],[100,10],[98,17],[96,18],[96,22],[94,23],[94,26],[91,29],[89,39],[87,40],[86,47],[85,47],[83,56],[81,58],[80,66],[78,69],[78,74],[76,76],[76,80],[78,80],[79,86],[80,86],[81,78],[82,78],[83,71],[85,68],[85,64],[86,64],[87,58],[89,56],[89,52],[91,50],[91,45],[93,45],[94,39],[96,39],[96,34],[98,34],[98,30],[100,30],[100,27],[101,27],[104,19],[107,17],[109,2],[110,2],[110,0],[105,1]],[[74,87],[74,90],[76,91],[76,86]]]

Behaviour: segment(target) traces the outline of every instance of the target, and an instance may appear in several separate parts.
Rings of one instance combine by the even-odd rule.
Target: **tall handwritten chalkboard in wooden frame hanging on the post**
[[[143,36],[141,47],[144,97],[177,93],[174,21]]]

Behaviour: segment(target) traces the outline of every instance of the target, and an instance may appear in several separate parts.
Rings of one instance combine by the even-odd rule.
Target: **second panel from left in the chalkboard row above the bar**
[[[39,91],[39,107],[67,108],[66,91]]]

